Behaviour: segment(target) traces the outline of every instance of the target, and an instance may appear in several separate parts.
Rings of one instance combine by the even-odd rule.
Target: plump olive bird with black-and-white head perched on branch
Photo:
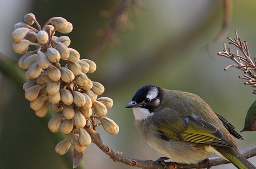
[[[238,169],[256,169],[239,152],[233,136],[243,138],[235,127],[198,95],[146,85],[125,107],[133,109],[142,138],[173,162],[196,164],[216,155]]]

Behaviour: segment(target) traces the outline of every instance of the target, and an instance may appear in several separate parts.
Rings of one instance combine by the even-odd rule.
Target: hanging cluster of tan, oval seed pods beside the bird
[[[36,24],[38,30],[31,25]],[[69,48],[67,36],[54,36],[55,31],[69,33],[73,25],[66,19],[54,17],[41,28],[33,13],[27,13],[24,22],[13,26],[13,51],[22,55],[19,67],[27,69],[27,82],[23,85],[25,97],[30,107],[39,117],[44,117],[49,105],[55,112],[60,112],[50,119],[48,127],[52,132],[61,131],[73,134],[59,142],[55,150],[65,154],[71,144],[79,152],[91,143],[91,137],[83,127],[91,125],[90,117],[94,114],[101,120],[103,128],[111,135],[119,131],[118,125],[107,117],[107,109],[113,105],[108,97],[97,99],[104,92],[104,86],[91,81],[87,73],[96,70],[96,64],[88,59],[80,59],[77,50]],[[37,43],[36,43],[37,41]],[[35,46],[36,50],[28,51]],[[67,63],[64,67],[60,61]],[[62,111],[62,112],[61,112]],[[94,113],[93,113],[94,111]]]

